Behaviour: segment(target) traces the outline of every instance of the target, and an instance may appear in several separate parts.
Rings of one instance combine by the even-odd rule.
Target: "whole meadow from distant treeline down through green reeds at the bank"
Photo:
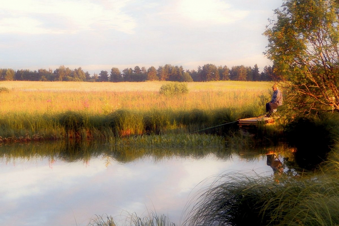
[[[191,82],[163,95],[169,82],[3,81],[0,136],[107,138],[184,133],[264,113],[269,82]]]

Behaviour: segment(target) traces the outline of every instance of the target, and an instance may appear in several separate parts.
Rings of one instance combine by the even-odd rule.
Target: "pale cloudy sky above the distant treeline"
[[[211,63],[272,65],[262,35],[282,0],[10,0],[0,68],[85,72]]]

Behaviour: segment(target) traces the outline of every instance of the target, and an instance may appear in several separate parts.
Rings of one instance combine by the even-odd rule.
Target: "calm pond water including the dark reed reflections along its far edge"
[[[70,150],[65,144],[1,146],[0,225],[82,226],[95,214],[112,215],[123,225],[126,216],[148,212],[180,225],[188,199],[206,185],[200,183],[204,179],[237,171],[274,173],[265,154],[220,155],[215,153],[228,150],[210,148],[201,155],[146,154],[123,161],[107,145],[95,147],[65,157]]]

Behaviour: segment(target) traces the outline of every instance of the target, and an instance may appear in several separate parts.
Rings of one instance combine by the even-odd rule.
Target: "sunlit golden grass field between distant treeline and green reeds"
[[[271,83],[244,81],[190,82],[188,94],[160,95],[159,89],[165,83],[2,81],[0,87],[9,92],[0,93],[0,115],[68,110],[92,114],[117,109],[213,110],[251,107],[258,99],[269,100],[271,95]]]

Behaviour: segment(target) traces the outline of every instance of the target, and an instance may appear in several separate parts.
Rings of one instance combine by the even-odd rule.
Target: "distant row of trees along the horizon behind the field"
[[[89,74],[84,72],[81,67],[71,70],[61,65],[56,70],[39,69],[31,70],[13,70],[0,69],[1,81],[88,81],[88,82],[140,82],[140,81],[219,81],[219,80],[238,80],[238,81],[271,81],[274,80],[273,68],[265,66],[259,73],[258,65],[254,67],[245,67],[244,65],[234,66],[231,69],[225,66],[217,67],[214,64],[205,64],[198,67],[198,70],[184,70],[182,66],[173,66],[165,64],[158,69],[151,66],[148,69],[135,66],[125,68],[122,72],[113,67],[110,72],[101,71],[99,74]]]

